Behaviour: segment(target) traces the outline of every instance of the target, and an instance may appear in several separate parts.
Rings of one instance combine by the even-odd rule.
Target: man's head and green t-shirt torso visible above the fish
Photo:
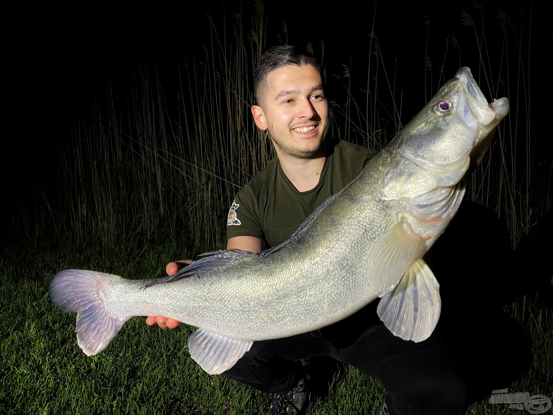
[[[258,64],[255,124],[276,156],[238,192],[227,220],[228,248],[257,252],[288,238],[307,215],[357,177],[375,152],[327,143],[328,101],[316,60],[290,46]],[[238,225],[239,221],[239,225]]]

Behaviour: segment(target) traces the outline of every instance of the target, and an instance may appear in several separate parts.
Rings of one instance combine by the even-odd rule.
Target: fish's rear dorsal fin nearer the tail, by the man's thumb
[[[139,289],[144,289],[153,286],[154,284],[161,284],[164,282],[175,281],[176,279],[190,277],[196,274],[202,274],[205,272],[215,271],[215,269],[222,266],[226,266],[242,260],[246,257],[257,255],[254,252],[241,251],[241,250],[222,250],[215,252],[205,252],[200,254],[202,255],[211,255],[209,257],[200,258],[197,261],[192,262],[190,265],[182,268],[180,271],[174,273],[173,275],[168,275],[166,277],[149,279],[143,284]]]

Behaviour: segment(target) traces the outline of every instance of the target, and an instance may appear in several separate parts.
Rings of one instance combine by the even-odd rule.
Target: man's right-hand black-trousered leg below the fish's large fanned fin
[[[334,356],[377,378],[387,392],[390,415],[465,414],[469,386],[458,359],[440,333],[420,343],[394,336],[384,325],[371,326]]]

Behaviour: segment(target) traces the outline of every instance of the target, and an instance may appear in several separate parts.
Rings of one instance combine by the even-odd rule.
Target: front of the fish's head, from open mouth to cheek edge
[[[393,147],[441,177],[440,184],[455,184],[468,169],[472,150],[508,111],[507,98],[488,103],[471,70],[461,68],[398,134]],[[480,146],[477,157],[486,149]]]

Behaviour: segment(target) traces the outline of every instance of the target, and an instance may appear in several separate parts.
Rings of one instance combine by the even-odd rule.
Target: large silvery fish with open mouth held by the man
[[[279,246],[209,253],[174,276],[129,280],[69,269],[50,297],[77,313],[77,344],[102,351],[125,321],[165,315],[197,326],[191,356],[208,373],[232,367],[253,341],[320,329],[382,297],[378,315],[405,340],[430,336],[439,284],[422,256],[444,232],[465,192],[462,180],[507,114],[468,68],[455,77],[340,193]]]

